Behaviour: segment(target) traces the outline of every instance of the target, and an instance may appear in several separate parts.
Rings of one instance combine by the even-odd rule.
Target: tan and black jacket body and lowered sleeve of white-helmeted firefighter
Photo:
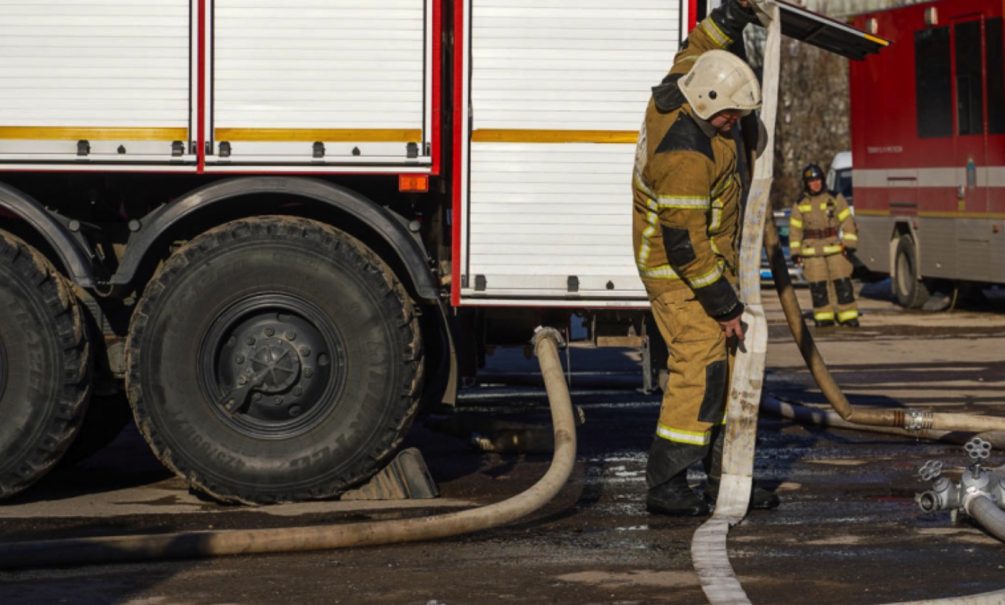
[[[735,141],[686,104],[663,113],[650,100],[635,155],[632,215],[635,261],[650,297],[693,292],[717,320],[743,312],[733,286],[741,194]]]

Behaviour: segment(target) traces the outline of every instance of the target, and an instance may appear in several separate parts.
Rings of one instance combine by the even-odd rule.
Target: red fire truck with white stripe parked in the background
[[[1005,283],[1002,16],[944,0],[855,18],[893,39],[850,66],[857,255],[903,307]]]

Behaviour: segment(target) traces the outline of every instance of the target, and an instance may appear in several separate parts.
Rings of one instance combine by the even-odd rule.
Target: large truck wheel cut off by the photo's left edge
[[[24,242],[0,233],[0,497],[59,460],[90,394],[90,348],[66,281]]]

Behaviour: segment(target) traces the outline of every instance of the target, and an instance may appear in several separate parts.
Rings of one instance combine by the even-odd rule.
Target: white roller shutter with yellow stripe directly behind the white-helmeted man
[[[686,3],[473,0],[462,300],[645,302],[631,169]]]

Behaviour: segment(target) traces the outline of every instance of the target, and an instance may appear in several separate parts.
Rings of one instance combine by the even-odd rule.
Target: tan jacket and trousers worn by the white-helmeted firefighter
[[[681,53],[708,43],[703,27]],[[681,62],[689,68],[678,54],[674,69]],[[636,150],[632,243],[669,351],[656,435],[675,443],[703,447],[723,421],[732,352],[718,320],[743,312],[734,289],[742,191],[734,139],[686,104],[663,113],[650,99]]]

